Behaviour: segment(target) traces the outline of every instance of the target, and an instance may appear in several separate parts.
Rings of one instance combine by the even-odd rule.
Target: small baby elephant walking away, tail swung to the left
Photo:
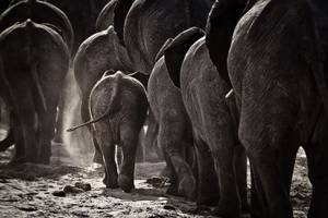
[[[95,84],[89,101],[91,121],[69,129],[93,124],[93,136],[99,144],[104,159],[107,187],[120,186],[125,192],[133,189],[134,159],[141,131],[147,117],[145,89],[136,78],[121,72],[104,76]],[[115,145],[122,150],[120,172],[115,162]]]

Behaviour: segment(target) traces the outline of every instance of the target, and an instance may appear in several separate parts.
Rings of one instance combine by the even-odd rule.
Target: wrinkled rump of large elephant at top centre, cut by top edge
[[[174,38],[191,26],[204,27],[212,2],[136,0],[126,16],[124,33],[116,29],[127,47],[134,71],[150,74],[167,38]]]

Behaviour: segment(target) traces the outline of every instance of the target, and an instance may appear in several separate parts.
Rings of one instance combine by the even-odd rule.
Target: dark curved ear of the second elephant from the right
[[[197,27],[188,28],[177,35],[173,41],[164,49],[165,64],[168,74],[175,86],[180,87],[180,68],[183,65],[185,55],[190,46],[199,38],[204,36],[204,32]]]

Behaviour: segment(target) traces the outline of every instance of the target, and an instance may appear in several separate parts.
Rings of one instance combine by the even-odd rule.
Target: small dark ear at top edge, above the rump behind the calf
[[[114,29],[121,45],[125,45],[124,31],[126,17],[133,2],[134,0],[118,0],[114,9]]]

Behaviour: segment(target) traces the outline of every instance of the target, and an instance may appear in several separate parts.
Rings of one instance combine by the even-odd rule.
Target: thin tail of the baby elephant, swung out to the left
[[[117,72],[114,75],[114,87],[113,87],[113,92],[112,92],[112,95],[110,95],[109,104],[108,104],[108,107],[107,107],[106,111],[102,116],[99,116],[98,118],[92,119],[92,120],[90,120],[85,123],[72,126],[72,128],[68,129],[67,132],[72,132],[72,131],[78,130],[80,128],[96,123],[96,122],[103,120],[104,118],[107,118],[108,116],[117,112],[120,108],[120,106],[119,106],[119,93],[120,93],[120,84],[121,84],[122,77],[124,77],[124,74],[121,72]],[[106,80],[106,76],[105,76],[105,80]]]

